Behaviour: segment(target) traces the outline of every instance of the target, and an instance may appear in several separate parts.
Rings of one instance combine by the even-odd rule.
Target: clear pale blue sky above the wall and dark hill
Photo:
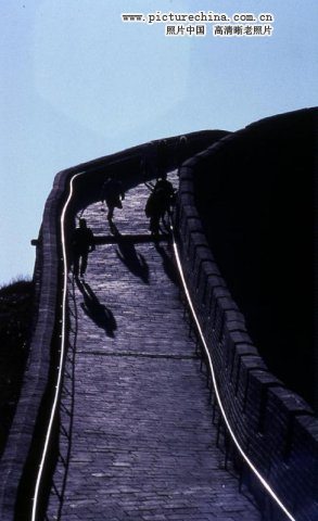
[[[165,37],[122,12],[275,15],[270,38]],[[0,3],[0,283],[31,275],[54,175],[151,139],[317,105],[317,0]]]

